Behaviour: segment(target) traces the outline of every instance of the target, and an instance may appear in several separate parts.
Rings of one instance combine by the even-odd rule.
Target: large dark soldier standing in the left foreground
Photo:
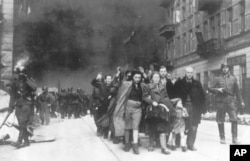
[[[33,81],[30,80],[24,73],[19,73],[18,78],[11,85],[11,103],[9,112],[13,112],[16,108],[16,117],[18,121],[19,136],[16,143],[13,145],[17,148],[29,146],[28,125],[32,123],[34,113],[33,92],[36,89]],[[33,111],[32,111],[33,110]]]

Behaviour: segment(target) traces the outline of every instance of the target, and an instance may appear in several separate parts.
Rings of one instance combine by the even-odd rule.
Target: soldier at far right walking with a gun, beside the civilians
[[[213,82],[212,88],[209,91],[216,94],[216,121],[218,123],[220,143],[225,144],[224,122],[225,114],[228,113],[229,119],[232,123],[232,143],[237,144],[237,101],[244,108],[237,78],[230,74],[227,64],[221,65],[222,75],[216,78]]]

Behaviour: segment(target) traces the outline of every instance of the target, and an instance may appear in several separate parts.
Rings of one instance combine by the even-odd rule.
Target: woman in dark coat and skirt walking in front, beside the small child
[[[150,139],[148,150],[154,150],[156,137],[159,136],[161,152],[170,154],[166,146],[166,134],[170,129],[169,112],[173,110],[173,105],[166,87],[160,83],[159,73],[153,73],[151,83],[143,88],[143,100],[149,104],[146,114]]]

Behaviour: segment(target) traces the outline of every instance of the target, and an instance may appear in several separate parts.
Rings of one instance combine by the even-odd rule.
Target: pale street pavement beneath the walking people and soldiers
[[[97,137],[93,118],[89,115],[81,119],[52,119],[49,126],[41,126],[35,134],[54,136],[56,141],[33,143],[22,149],[0,146],[0,161],[229,161],[230,130],[231,125],[226,123],[227,144],[222,145],[216,122],[202,121],[196,140],[198,151],[177,149],[170,155],[163,155],[160,149],[148,152],[145,146],[141,146],[140,155],[134,155],[132,150],[124,152],[122,144]],[[240,125],[238,133],[242,143],[250,144],[250,126]]]

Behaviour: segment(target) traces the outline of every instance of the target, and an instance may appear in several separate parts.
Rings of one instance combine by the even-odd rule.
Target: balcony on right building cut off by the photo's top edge
[[[212,13],[220,8],[223,0],[199,0],[198,10]]]

